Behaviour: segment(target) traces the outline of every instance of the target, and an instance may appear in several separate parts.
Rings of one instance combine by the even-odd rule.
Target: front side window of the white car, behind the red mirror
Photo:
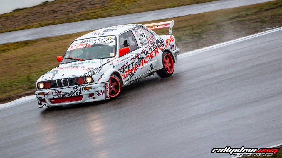
[[[133,51],[138,48],[137,42],[131,30],[121,34],[119,41],[120,49],[129,47],[130,51]]]

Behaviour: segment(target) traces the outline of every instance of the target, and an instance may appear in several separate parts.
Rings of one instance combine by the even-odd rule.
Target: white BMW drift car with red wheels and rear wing
[[[37,80],[39,107],[116,99],[122,87],[155,72],[171,76],[179,54],[173,25],[173,20],[120,25],[77,38],[57,57],[59,66]],[[152,31],[168,27],[168,35]]]

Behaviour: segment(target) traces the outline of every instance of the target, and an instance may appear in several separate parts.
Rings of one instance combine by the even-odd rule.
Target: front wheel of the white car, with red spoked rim
[[[111,75],[110,76],[110,79],[109,79],[109,82],[110,82],[110,99],[117,99],[117,97],[120,96],[120,93],[121,93],[121,82],[120,82],[120,79],[116,76],[116,75]]]

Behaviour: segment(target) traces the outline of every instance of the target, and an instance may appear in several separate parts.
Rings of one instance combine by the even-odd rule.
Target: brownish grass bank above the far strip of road
[[[0,15],[0,33],[215,0],[56,0]],[[145,16],[145,15],[144,15]]]

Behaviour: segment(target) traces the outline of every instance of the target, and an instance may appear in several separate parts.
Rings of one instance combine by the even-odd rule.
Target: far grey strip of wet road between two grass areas
[[[143,13],[85,20],[85,21],[78,21],[78,22],[65,23],[59,25],[51,25],[41,28],[32,28],[32,29],[19,30],[13,32],[5,32],[0,34],[0,44],[25,41],[25,40],[34,40],[43,37],[65,35],[70,33],[95,30],[98,28],[105,28],[114,25],[173,18],[177,16],[185,16],[188,14],[197,14],[197,13],[203,13],[203,12],[214,11],[219,9],[234,8],[244,5],[263,3],[267,1],[273,1],[273,0],[248,0],[248,1],[219,0],[219,1],[213,1],[208,3],[162,9],[157,11],[148,11]]]

